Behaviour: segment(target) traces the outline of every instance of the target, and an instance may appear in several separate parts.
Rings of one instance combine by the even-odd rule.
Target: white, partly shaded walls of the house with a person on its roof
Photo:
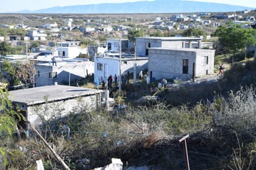
[[[48,64],[36,65],[37,73],[35,76],[35,86],[53,85],[55,82],[74,83],[78,80],[85,79],[86,76],[94,73],[94,63],[91,61],[81,61],[78,63],[66,63],[57,61],[57,66]],[[57,72],[57,78],[49,78],[50,72]]]

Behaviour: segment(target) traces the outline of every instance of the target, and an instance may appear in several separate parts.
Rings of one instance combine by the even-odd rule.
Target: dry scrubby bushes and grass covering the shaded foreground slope
[[[191,169],[255,169],[254,75],[253,61],[237,63],[216,84],[198,84],[193,91],[181,89],[175,94],[163,91],[163,96],[175,95],[175,100],[163,97],[161,102],[129,105],[125,112],[88,112],[80,102],[65,119],[58,113],[51,120],[42,116],[40,132],[70,169],[93,169],[111,158],[120,158],[127,166],[185,169],[178,140],[188,134]],[[180,99],[187,101],[170,105]],[[40,115],[43,109],[34,113]],[[69,136],[65,125],[70,127]],[[15,134],[2,135],[0,140],[0,148],[6,148],[0,156],[1,169],[35,169],[38,159],[45,169],[62,168],[35,136],[17,140]]]

